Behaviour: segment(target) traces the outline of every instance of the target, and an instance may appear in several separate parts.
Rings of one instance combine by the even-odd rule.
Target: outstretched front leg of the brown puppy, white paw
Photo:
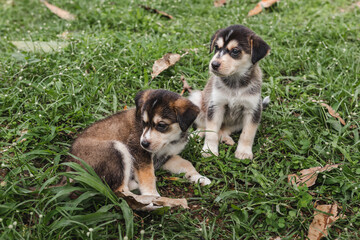
[[[179,155],[172,156],[163,166],[164,170],[171,173],[180,174],[185,173],[185,177],[191,182],[200,183],[202,186],[209,185],[210,179],[200,175],[194,166],[188,160],[183,159]]]

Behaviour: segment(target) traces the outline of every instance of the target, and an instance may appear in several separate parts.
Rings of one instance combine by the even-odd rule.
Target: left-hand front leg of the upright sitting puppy
[[[224,119],[224,106],[210,103],[206,118],[205,143],[203,147],[203,156],[210,157],[212,152],[218,156],[219,130]]]

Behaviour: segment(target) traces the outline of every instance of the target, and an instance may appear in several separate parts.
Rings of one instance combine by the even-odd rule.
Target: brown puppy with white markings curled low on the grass
[[[113,191],[139,188],[142,195],[159,196],[154,173],[159,168],[185,173],[192,182],[210,184],[178,155],[188,141],[187,130],[199,108],[166,90],[139,92],[135,104],[136,108],[88,127],[75,140],[70,153],[93,167]]]

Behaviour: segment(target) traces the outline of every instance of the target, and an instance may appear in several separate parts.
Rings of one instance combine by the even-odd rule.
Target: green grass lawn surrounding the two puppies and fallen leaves
[[[205,0],[51,1],[75,14],[72,22],[39,1],[0,2],[0,149],[7,149],[0,153],[1,239],[305,239],[314,203],[334,202],[346,218],[333,224],[327,239],[360,238],[360,9],[355,1],[281,1],[251,18],[246,15],[254,0],[228,1],[222,8]],[[174,19],[147,12],[142,4]],[[219,157],[202,158],[202,143],[192,139],[182,156],[212,185],[169,181],[168,173],[157,173],[161,194],[186,197],[190,210],[132,213],[81,169],[78,184],[44,189],[62,175],[74,137],[132,106],[139,90],[180,92],[182,74],[202,88],[209,39],[230,24],[248,26],[272,47],[261,62],[263,96],[272,103],[263,114],[252,161],[237,160],[235,148],[224,145]],[[68,40],[58,37],[65,31]],[[69,46],[27,53],[11,45],[15,40]],[[197,50],[149,84],[156,59],[187,49]],[[319,174],[309,189],[287,182],[288,174],[334,163],[343,165]],[[32,186],[41,191],[30,192]]]

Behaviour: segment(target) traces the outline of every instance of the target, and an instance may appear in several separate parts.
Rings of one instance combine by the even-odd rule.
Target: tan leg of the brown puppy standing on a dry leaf
[[[154,195],[160,196],[156,190],[156,177],[154,164],[151,161],[147,164],[141,164],[134,169],[137,182],[139,183],[139,189],[141,195]]]

